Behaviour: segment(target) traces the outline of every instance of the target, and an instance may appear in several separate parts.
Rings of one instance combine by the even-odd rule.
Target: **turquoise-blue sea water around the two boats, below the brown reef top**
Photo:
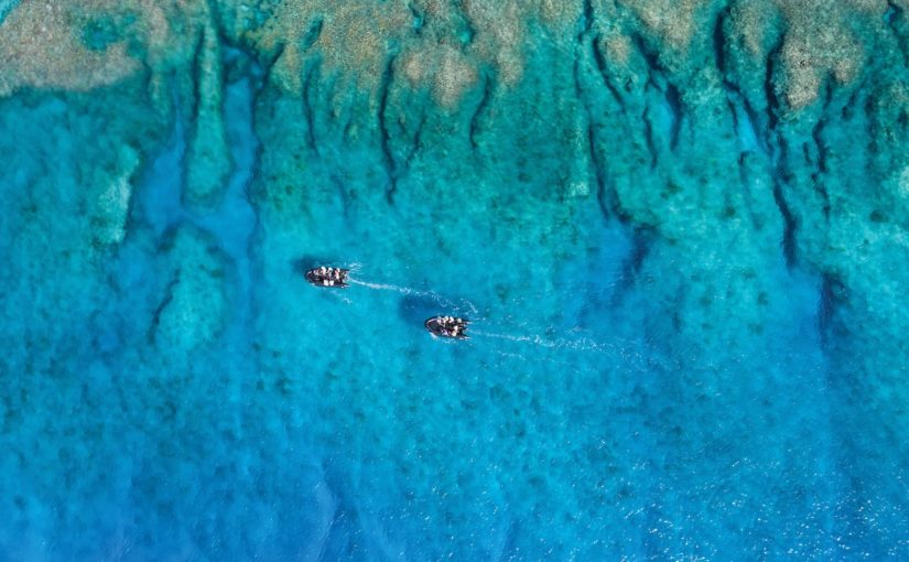
[[[909,556],[899,52],[804,131],[573,29],[454,109],[226,40],[218,119],[0,99],[0,559]]]

